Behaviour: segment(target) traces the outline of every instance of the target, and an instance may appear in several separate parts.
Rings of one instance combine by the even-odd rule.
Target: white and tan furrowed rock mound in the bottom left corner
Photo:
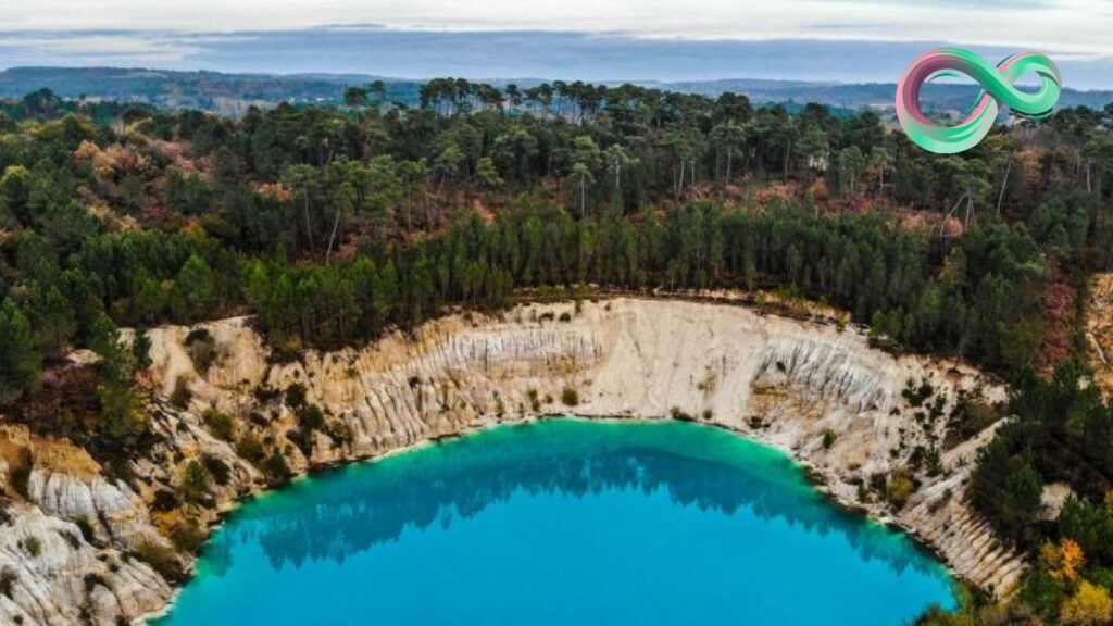
[[[3,502],[0,623],[111,624],[164,606],[170,586],[149,565],[125,556],[129,541],[165,541],[146,505],[66,442],[0,426],[0,485],[31,462],[26,500]]]

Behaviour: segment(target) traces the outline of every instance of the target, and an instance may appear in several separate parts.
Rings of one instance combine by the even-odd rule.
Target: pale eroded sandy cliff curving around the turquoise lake
[[[17,524],[29,524],[24,517],[62,525],[77,516],[96,518],[106,545],[101,554],[116,563],[127,546],[157,534],[158,520],[151,521],[157,516],[140,503],[149,507],[159,490],[173,489],[184,463],[200,454],[230,468],[227,485],[214,490],[201,513],[204,521],[215,521],[217,511],[264,482],[258,468],[206,428],[201,415],[210,409],[235,418],[236,438],[250,433],[268,449],[285,450],[295,471],[544,413],[674,417],[788,451],[814,469],[834,498],[903,526],[978,585],[1004,591],[1024,567],[963,498],[971,463],[993,427],[951,450],[942,451],[940,443],[959,390],[998,398],[1002,390],[969,369],[871,350],[853,330],[738,306],[617,299],[584,303],[582,311],[564,303],[520,306],[500,319],[453,315],[414,336],[395,334],[361,350],[309,352],[297,362],[272,364],[246,320],[204,327],[221,354],[207,371],[199,371],[184,346],[189,329],[149,333],[149,378],[159,398],[151,426],[162,442],[132,463],[137,480],[130,486],[99,475],[67,480],[36,470],[28,482],[33,503],[16,512]],[[926,391],[907,392],[909,384]],[[296,442],[297,412],[282,399],[292,385],[304,385],[306,401],[325,413],[325,426]],[[170,407],[165,399],[183,387],[190,391],[188,407]],[[933,450],[940,451],[938,462],[925,469],[922,459]],[[869,488],[896,473],[913,479],[899,508],[886,501],[884,490]],[[96,552],[79,539],[77,547],[60,548],[67,558]],[[21,599],[0,597],[0,617],[71,619],[86,596],[69,587],[82,590],[81,578],[58,571],[32,567],[20,574],[27,585],[47,589],[55,609],[32,613],[38,605],[17,594]],[[165,583],[147,585],[150,579],[139,573],[150,570],[137,565],[135,571],[105,575],[116,608],[93,603],[96,620],[132,617],[166,601]],[[152,599],[121,591],[139,588],[118,583],[121,578],[142,580]]]

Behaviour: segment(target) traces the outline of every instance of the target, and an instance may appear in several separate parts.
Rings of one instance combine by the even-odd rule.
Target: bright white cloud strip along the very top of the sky
[[[4,2],[9,29],[294,30],[319,25],[394,29],[626,32],[642,37],[827,37],[948,40],[1113,53],[1107,0],[38,0]],[[849,29],[839,29],[849,30]]]

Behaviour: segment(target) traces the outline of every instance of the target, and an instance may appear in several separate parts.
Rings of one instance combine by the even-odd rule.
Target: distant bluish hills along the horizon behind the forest
[[[21,97],[47,88],[63,98],[139,101],[174,109],[195,108],[240,115],[248,106],[270,106],[280,101],[338,104],[345,87],[381,79],[387,85],[388,101],[414,106],[421,82],[354,74],[221,74],[215,71],[164,71],[120,68],[11,68],[0,71],[0,98]],[[538,78],[491,79],[504,86],[529,87]],[[618,85],[621,81],[610,81]],[[893,107],[895,84],[811,82],[800,80],[722,79],[703,81],[636,81],[639,85],[715,97],[725,91],[745,94],[757,104],[820,102],[836,108]],[[973,85],[936,84],[925,88],[925,109],[961,111],[973,104],[978,88]],[[1102,108],[1113,102],[1113,91],[1065,89],[1060,106]]]

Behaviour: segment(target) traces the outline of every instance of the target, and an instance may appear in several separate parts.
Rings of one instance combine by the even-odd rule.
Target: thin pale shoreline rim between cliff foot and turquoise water
[[[343,461],[334,461],[334,462],[321,463],[321,464],[317,464],[317,466],[312,466],[308,469],[306,469],[306,471],[304,471],[304,472],[302,472],[302,473],[299,473],[299,475],[290,478],[290,480],[286,481],[285,483],[277,485],[277,486],[274,486],[274,487],[265,487],[265,488],[262,488],[262,489],[259,489],[257,491],[252,491],[246,497],[239,498],[239,499],[235,500],[235,502],[233,503],[233,506],[230,506],[230,507],[221,510],[220,511],[220,516],[218,517],[218,521],[216,524],[209,525],[206,528],[206,530],[209,532],[208,538],[206,538],[205,544],[194,555],[194,557],[195,557],[194,564],[190,567],[190,570],[188,571],[188,577],[186,578],[185,583],[183,583],[181,585],[177,585],[177,586],[174,587],[174,593],[168,598],[168,600],[166,603],[166,606],[162,607],[162,608],[160,608],[157,612],[151,612],[151,613],[148,613],[148,614],[144,614],[144,615],[137,616],[136,618],[134,618],[131,620],[131,624],[134,626],[142,626],[142,625],[149,624],[154,619],[159,619],[159,618],[166,617],[167,615],[169,615],[174,610],[175,605],[177,604],[178,599],[181,596],[181,593],[185,590],[186,586],[188,586],[193,581],[194,577],[196,576],[195,567],[196,567],[197,559],[199,559],[200,556],[201,556],[201,554],[205,551],[205,548],[208,545],[209,539],[211,539],[211,537],[217,532],[217,530],[221,526],[224,526],[224,521],[225,521],[225,519],[227,517],[234,515],[239,508],[242,508],[247,502],[250,502],[250,501],[259,499],[259,498],[264,498],[264,497],[266,497],[266,496],[268,496],[270,493],[274,493],[274,492],[276,492],[278,490],[282,490],[282,489],[286,488],[286,487],[289,487],[290,485],[293,485],[295,482],[304,481],[306,479],[309,479],[309,478],[312,478],[315,475],[325,473],[325,472],[333,471],[333,470],[339,470],[339,469],[344,469],[344,468],[348,468],[348,467],[353,467],[353,466],[358,466],[358,464],[363,464],[363,463],[375,463],[375,462],[378,462],[378,461],[383,461],[383,460],[390,459],[392,457],[397,457],[397,456],[406,454],[406,453],[414,452],[414,451],[417,451],[417,450],[422,450],[424,448],[430,448],[430,447],[436,446],[437,443],[441,443],[441,442],[454,441],[454,440],[459,440],[459,439],[462,439],[462,438],[465,438],[465,437],[470,437],[470,436],[474,436],[474,434],[480,434],[480,433],[483,433],[483,432],[486,432],[486,431],[490,431],[490,430],[494,430],[494,429],[499,429],[499,428],[528,426],[528,424],[531,424],[531,423],[539,423],[539,422],[543,422],[543,421],[546,421],[546,420],[558,420],[558,419],[581,421],[581,422],[585,422],[585,423],[592,423],[592,422],[599,423],[599,422],[602,422],[602,423],[617,423],[617,424],[620,424],[620,423],[668,423],[668,422],[692,423],[692,424],[703,426],[703,427],[708,427],[708,428],[713,428],[713,429],[727,432],[727,433],[731,434],[732,437],[737,437],[739,439],[745,439],[745,440],[747,440],[749,442],[757,443],[759,446],[764,446],[764,447],[769,448],[771,450],[776,450],[777,452],[784,454],[787,459],[791,460],[792,463],[800,469],[801,478],[812,489],[815,489],[815,491],[823,498],[823,500],[827,505],[835,507],[840,512],[843,512],[843,513],[845,513],[847,516],[850,516],[850,517],[854,517],[854,518],[858,518],[858,519],[861,519],[861,520],[865,520],[865,521],[868,521],[868,522],[871,522],[871,524],[877,524],[879,526],[884,526],[885,528],[887,528],[887,529],[889,529],[892,531],[895,531],[895,532],[900,532],[902,535],[904,535],[905,537],[908,538],[908,540],[916,547],[917,550],[920,550],[926,556],[928,556],[932,559],[936,560],[945,569],[945,571],[951,577],[951,579],[952,579],[953,583],[955,583],[955,584],[959,584],[959,583],[962,583],[962,584],[969,584],[969,581],[967,579],[965,579],[964,577],[959,576],[954,570],[954,567],[952,566],[952,564],[948,561],[948,559],[942,552],[939,552],[929,541],[925,540],[914,529],[909,528],[905,524],[902,524],[899,520],[897,520],[896,518],[894,518],[892,516],[888,516],[888,515],[884,515],[884,516],[877,515],[877,512],[874,511],[874,510],[871,510],[869,507],[865,507],[865,506],[863,506],[860,503],[850,503],[850,502],[844,501],[843,499],[840,499],[838,497],[837,493],[835,493],[833,490],[828,489],[828,487],[827,487],[827,485],[828,485],[828,482],[827,482],[828,478],[827,478],[827,476],[821,470],[819,470],[818,468],[816,468],[814,463],[811,463],[811,462],[809,462],[809,461],[807,461],[805,459],[799,458],[792,450],[786,448],[785,446],[778,444],[778,443],[776,443],[774,441],[769,441],[769,440],[765,440],[765,439],[755,437],[754,433],[751,433],[751,432],[745,431],[745,430],[742,430],[740,428],[737,428],[737,427],[732,427],[730,424],[717,422],[717,421],[713,421],[713,420],[711,420],[711,421],[703,421],[703,420],[696,420],[696,419],[677,419],[677,418],[672,418],[672,417],[668,417],[668,415],[666,415],[666,417],[592,415],[592,414],[584,414],[584,413],[575,413],[574,411],[568,411],[568,412],[563,412],[563,413],[538,413],[538,414],[531,414],[531,415],[524,415],[524,417],[518,417],[518,418],[508,418],[508,419],[498,419],[498,418],[495,418],[494,420],[491,420],[491,421],[485,421],[483,423],[479,423],[479,424],[475,424],[475,426],[465,427],[465,428],[463,428],[460,431],[454,432],[454,433],[445,433],[445,434],[439,434],[439,436],[430,437],[430,438],[422,439],[420,441],[415,441],[415,442],[406,444],[406,446],[401,446],[401,447],[397,447],[397,448],[394,448],[394,449],[391,449],[391,450],[386,450],[386,451],[381,452],[378,454],[372,454],[372,456],[367,456],[367,457],[352,458],[352,459],[347,459],[347,460],[343,460]]]

